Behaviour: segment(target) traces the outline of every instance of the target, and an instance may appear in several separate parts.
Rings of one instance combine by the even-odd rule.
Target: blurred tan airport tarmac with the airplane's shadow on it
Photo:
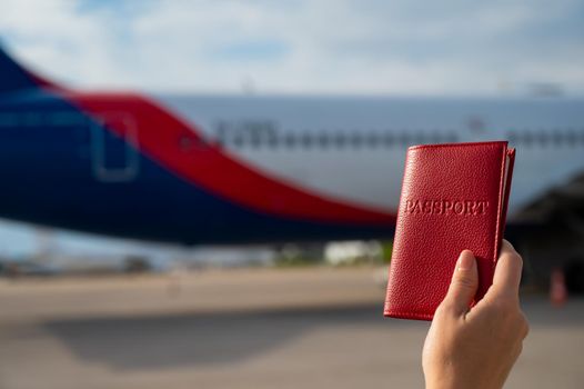
[[[383,272],[0,280],[0,389],[421,388],[429,325],[381,316]],[[506,388],[584,387],[584,301],[523,305]]]

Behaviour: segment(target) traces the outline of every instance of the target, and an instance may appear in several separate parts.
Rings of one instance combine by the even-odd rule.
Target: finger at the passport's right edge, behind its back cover
[[[493,292],[518,298],[523,260],[510,242],[503,239],[493,277]]]

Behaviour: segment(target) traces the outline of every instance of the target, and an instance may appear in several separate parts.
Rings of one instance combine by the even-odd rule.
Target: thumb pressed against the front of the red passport
[[[476,295],[476,288],[479,288],[476,260],[471,250],[464,250],[456,261],[444,302],[455,310],[455,315],[464,315]]]

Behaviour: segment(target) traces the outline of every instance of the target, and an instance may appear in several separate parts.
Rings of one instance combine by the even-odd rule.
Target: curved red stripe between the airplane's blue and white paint
[[[132,116],[139,128],[138,147],[179,177],[232,202],[260,212],[321,222],[390,225],[391,213],[324,199],[292,187],[228,157],[208,144],[187,124],[150,99],[129,93],[61,93],[95,119]],[[121,121],[108,129],[123,137]]]

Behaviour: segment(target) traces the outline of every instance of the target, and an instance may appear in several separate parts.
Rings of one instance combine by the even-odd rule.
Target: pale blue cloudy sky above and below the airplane
[[[544,83],[584,94],[575,0],[2,0],[0,39],[83,89],[460,96]],[[31,231],[0,222],[0,255],[31,250]]]

